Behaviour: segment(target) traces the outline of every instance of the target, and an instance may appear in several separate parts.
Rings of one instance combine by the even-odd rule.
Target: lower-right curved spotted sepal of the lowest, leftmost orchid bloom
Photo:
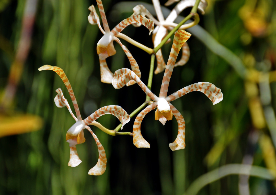
[[[102,175],[105,172],[106,163],[107,163],[105,150],[104,150],[102,144],[100,143],[99,139],[97,138],[97,136],[90,129],[90,127],[86,126],[86,128],[92,134],[92,136],[97,144],[98,152],[99,152],[98,162],[92,169],[89,170],[88,174],[89,175]]]

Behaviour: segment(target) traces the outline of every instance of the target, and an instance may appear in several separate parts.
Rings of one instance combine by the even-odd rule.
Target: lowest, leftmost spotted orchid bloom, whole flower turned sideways
[[[88,174],[89,175],[102,175],[105,172],[106,163],[107,163],[105,150],[104,150],[102,144],[100,143],[99,139],[97,138],[97,136],[93,133],[93,131],[91,130],[91,128],[88,125],[92,124],[93,122],[95,123],[95,120],[104,114],[112,114],[112,115],[116,116],[120,120],[122,125],[124,126],[124,124],[126,124],[130,120],[129,115],[120,106],[111,105],[111,106],[104,106],[104,107],[100,108],[99,110],[97,110],[93,114],[91,114],[89,117],[82,120],[81,114],[79,112],[78,103],[76,101],[73,89],[70,85],[70,82],[69,82],[67,76],[63,72],[63,70],[59,67],[56,67],[56,66],[53,67],[50,65],[44,65],[44,66],[40,67],[38,70],[39,71],[53,70],[60,76],[60,78],[62,79],[63,83],[65,84],[65,86],[70,94],[71,100],[73,102],[73,105],[74,105],[74,108],[76,111],[76,117],[75,117],[75,115],[71,111],[68,101],[63,96],[62,90],[60,88],[58,88],[56,90],[57,95],[54,99],[55,105],[59,108],[66,106],[68,108],[70,114],[76,121],[76,123],[73,124],[72,127],[69,128],[69,130],[67,131],[67,134],[66,134],[66,141],[69,143],[69,147],[70,147],[70,160],[69,160],[68,166],[75,167],[81,163],[81,160],[79,159],[79,156],[78,156],[78,152],[76,150],[76,145],[85,142],[83,130],[87,129],[92,134],[92,136],[98,146],[98,152],[99,152],[98,162],[92,169],[90,169]],[[121,128],[123,128],[123,126]]]

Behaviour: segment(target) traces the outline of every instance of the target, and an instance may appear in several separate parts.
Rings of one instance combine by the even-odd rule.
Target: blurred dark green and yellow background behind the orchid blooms
[[[202,195],[276,194],[275,182],[264,178],[236,173],[219,179],[223,168],[221,174],[212,175],[219,180],[202,189],[201,184],[208,184],[211,176],[191,185],[201,175],[233,163],[268,168],[266,175],[272,175],[271,179],[276,176],[274,0],[208,0],[206,14],[200,15],[202,28],[187,29],[192,34],[187,42],[190,60],[174,69],[168,94],[207,81],[222,89],[223,101],[213,106],[204,94],[195,92],[173,102],[186,122],[186,148],[174,152],[169,143],[176,138],[177,122],[173,119],[163,126],[154,120],[154,111],[141,126],[150,149],[136,148],[130,136],[112,137],[91,126],[107,154],[107,170],[101,176],[88,175],[98,151],[87,131],[86,142],[77,145],[82,163],[67,166],[70,152],[65,135],[74,120],[66,108],[55,106],[55,89],[63,90],[71,108],[72,103],[59,76],[38,68],[49,64],[65,71],[83,117],[106,105],[120,105],[130,114],[145,101],[145,94],[138,85],[115,90],[100,82],[96,44],[102,34],[97,25],[87,21],[91,4],[98,11],[96,1],[35,0],[27,6],[26,2],[0,1],[0,194],[178,195],[189,186],[188,190],[198,189]],[[160,1],[161,5],[165,2]],[[110,28],[129,17],[134,7],[131,2],[116,7],[117,3],[103,0]],[[27,20],[21,34],[24,15]],[[153,47],[144,27],[129,26],[123,33]],[[122,43],[133,54],[141,79],[147,83],[150,55],[124,40]],[[112,72],[130,68],[120,45],[114,45],[117,53],[107,58]],[[168,43],[162,49],[165,61],[170,48]],[[162,77],[163,73],[153,77],[155,94]],[[6,96],[13,90],[14,96]],[[97,121],[109,129],[120,123],[111,115]],[[122,131],[131,132],[133,122],[131,119]],[[25,131],[33,132],[5,136]]]

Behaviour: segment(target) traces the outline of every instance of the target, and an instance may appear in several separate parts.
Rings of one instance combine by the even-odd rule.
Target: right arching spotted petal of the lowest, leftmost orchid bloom
[[[97,111],[92,113],[89,117],[84,119],[83,122],[85,125],[89,125],[94,120],[96,120],[97,118],[99,118],[104,114],[112,114],[116,116],[122,123],[121,129],[123,129],[124,125],[128,123],[130,120],[130,116],[121,106],[110,105],[110,106],[104,106],[98,109]]]

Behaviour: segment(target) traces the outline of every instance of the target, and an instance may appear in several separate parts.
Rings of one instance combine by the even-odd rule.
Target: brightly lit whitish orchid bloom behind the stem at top
[[[177,0],[174,0],[175,2]],[[153,6],[155,8],[156,16],[158,20],[156,20],[152,14],[143,6],[143,5],[137,5],[136,7],[133,8],[134,13],[133,14],[141,14],[144,15],[148,18],[150,18],[157,26],[155,27],[153,31],[153,36],[152,36],[152,41],[153,41],[153,46],[156,47],[161,43],[163,38],[168,34],[168,30],[172,30],[174,27],[177,26],[176,23],[173,21],[176,20],[177,16],[187,7],[192,7],[195,4],[195,0],[182,0],[180,1],[174,9],[172,9],[171,13],[168,15],[166,19],[164,19],[163,13],[161,11],[161,6],[160,2],[157,0],[153,0]],[[168,1],[170,2],[170,1]],[[167,2],[167,4],[168,4]],[[171,3],[173,3],[171,2]],[[165,4],[166,5],[166,4]],[[198,6],[198,10],[202,14],[205,14],[204,9],[207,6],[207,1],[206,0],[201,0],[200,4]],[[139,24],[133,24],[134,26],[139,26]],[[179,29],[186,29],[188,28],[186,24],[182,25]],[[157,67],[156,70],[154,71],[155,74],[158,74],[162,72],[166,68],[166,64],[163,59],[163,55],[161,52],[161,49],[158,50],[155,54],[156,56],[156,61],[157,61]],[[182,66],[187,63],[190,57],[190,49],[187,43],[184,43],[182,46],[182,56],[181,59],[176,62],[174,66]]]

